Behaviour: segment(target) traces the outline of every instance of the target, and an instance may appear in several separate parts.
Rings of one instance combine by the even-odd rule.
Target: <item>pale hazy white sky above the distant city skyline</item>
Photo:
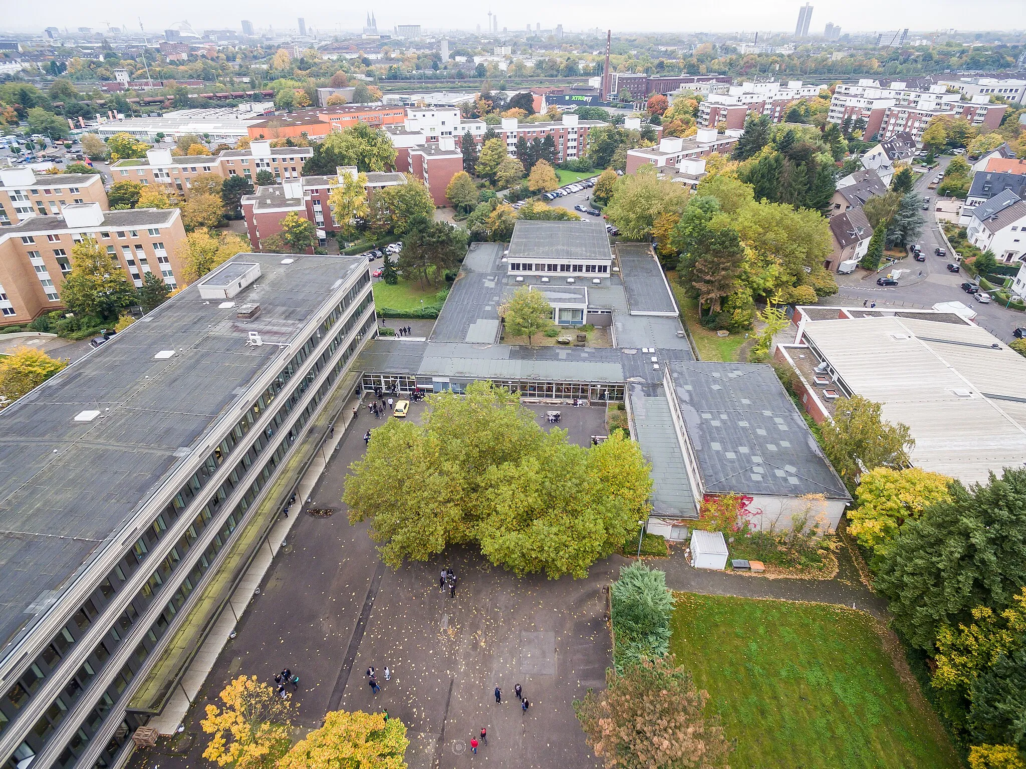
[[[124,0],[49,0],[16,2],[0,0],[0,28],[41,30],[44,27],[111,26],[139,28],[139,16],[149,32],[187,19],[197,31],[219,27],[240,29],[247,18],[258,29],[295,29],[302,13],[307,25],[328,32],[358,29],[364,15],[374,11],[379,29],[397,24],[420,24],[425,28],[473,30],[487,27],[487,0],[449,0],[444,3],[393,0],[357,7],[326,0],[285,3],[281,0],[249,0],[246,3],[210,3],[208,0],[174,0],[169,3],[137,3]],[[803,0],[802,0],[803,2]],[[557,24],[564,29],[611,27],[616,31],[712,31],[774,30],[793,32],[797,21],[797,0],[723,0],[721,2],[667,2],[666,0],[568,0],[567,2],[499,3],[490,9],[499,14],[499,27],[522,30],[527,23],[543,29]],[[511,7],[512,6],[512,7]],[[1026,28],[1024,0],[842,0],[815,2],[810,31],[822,34],[827,22],[846,31],[878,31],[908,27],[912,30],[955,28],[959,30],[1023,30]]]

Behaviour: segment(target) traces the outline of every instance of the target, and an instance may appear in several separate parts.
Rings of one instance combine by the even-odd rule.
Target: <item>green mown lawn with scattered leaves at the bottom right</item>
[[[870,616],[823,604],[676,597],[670,650],[737,738],[733,769],[961,766]]]

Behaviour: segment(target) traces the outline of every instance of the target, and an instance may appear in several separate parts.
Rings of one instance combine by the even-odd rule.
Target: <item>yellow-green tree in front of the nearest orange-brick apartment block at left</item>
[[[113,323],[134,303],[135,287],[96,241],[85,238],[72,246],[71,273],[61,286],[61,300],[74,313]]]

